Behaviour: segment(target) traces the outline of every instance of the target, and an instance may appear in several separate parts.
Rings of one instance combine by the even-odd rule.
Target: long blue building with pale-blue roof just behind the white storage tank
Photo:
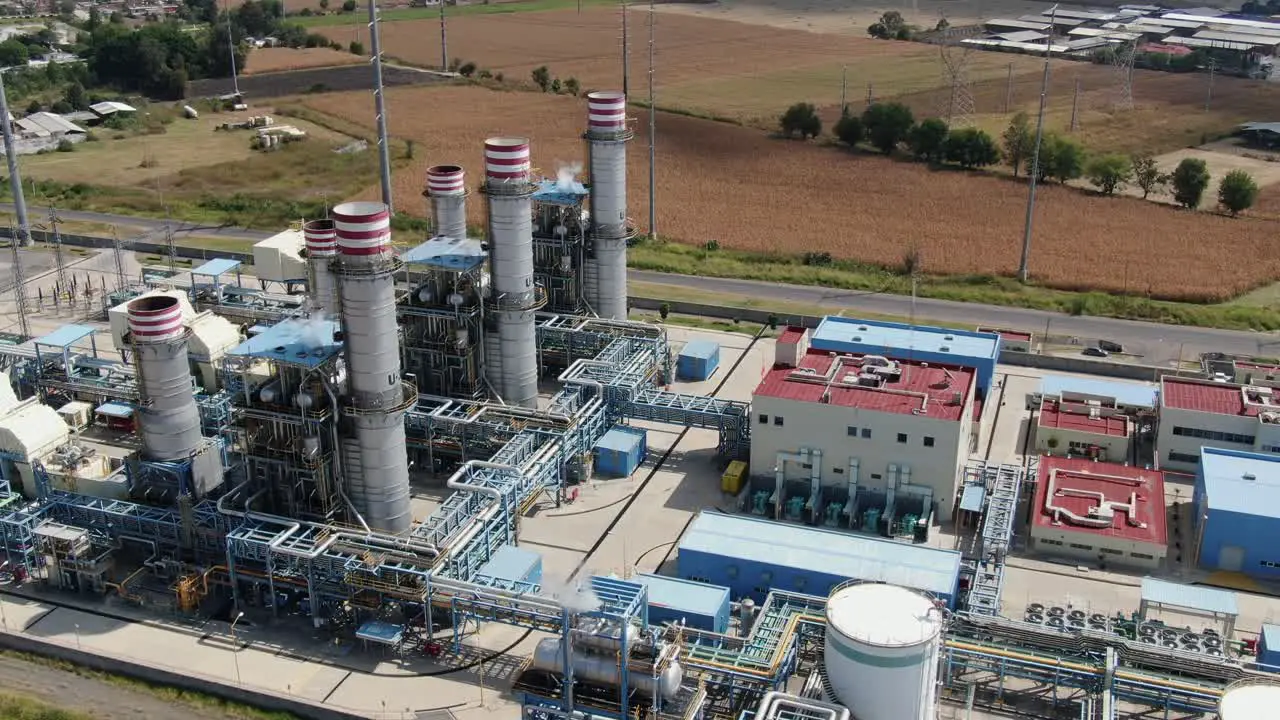
[[[954,606],[960,579],[959,552],[750,515],[701,512],[677,547],[681,578],[724,585],[735,600],[763,601],[773,589],[826,597],[846,580],[869,580]]]

